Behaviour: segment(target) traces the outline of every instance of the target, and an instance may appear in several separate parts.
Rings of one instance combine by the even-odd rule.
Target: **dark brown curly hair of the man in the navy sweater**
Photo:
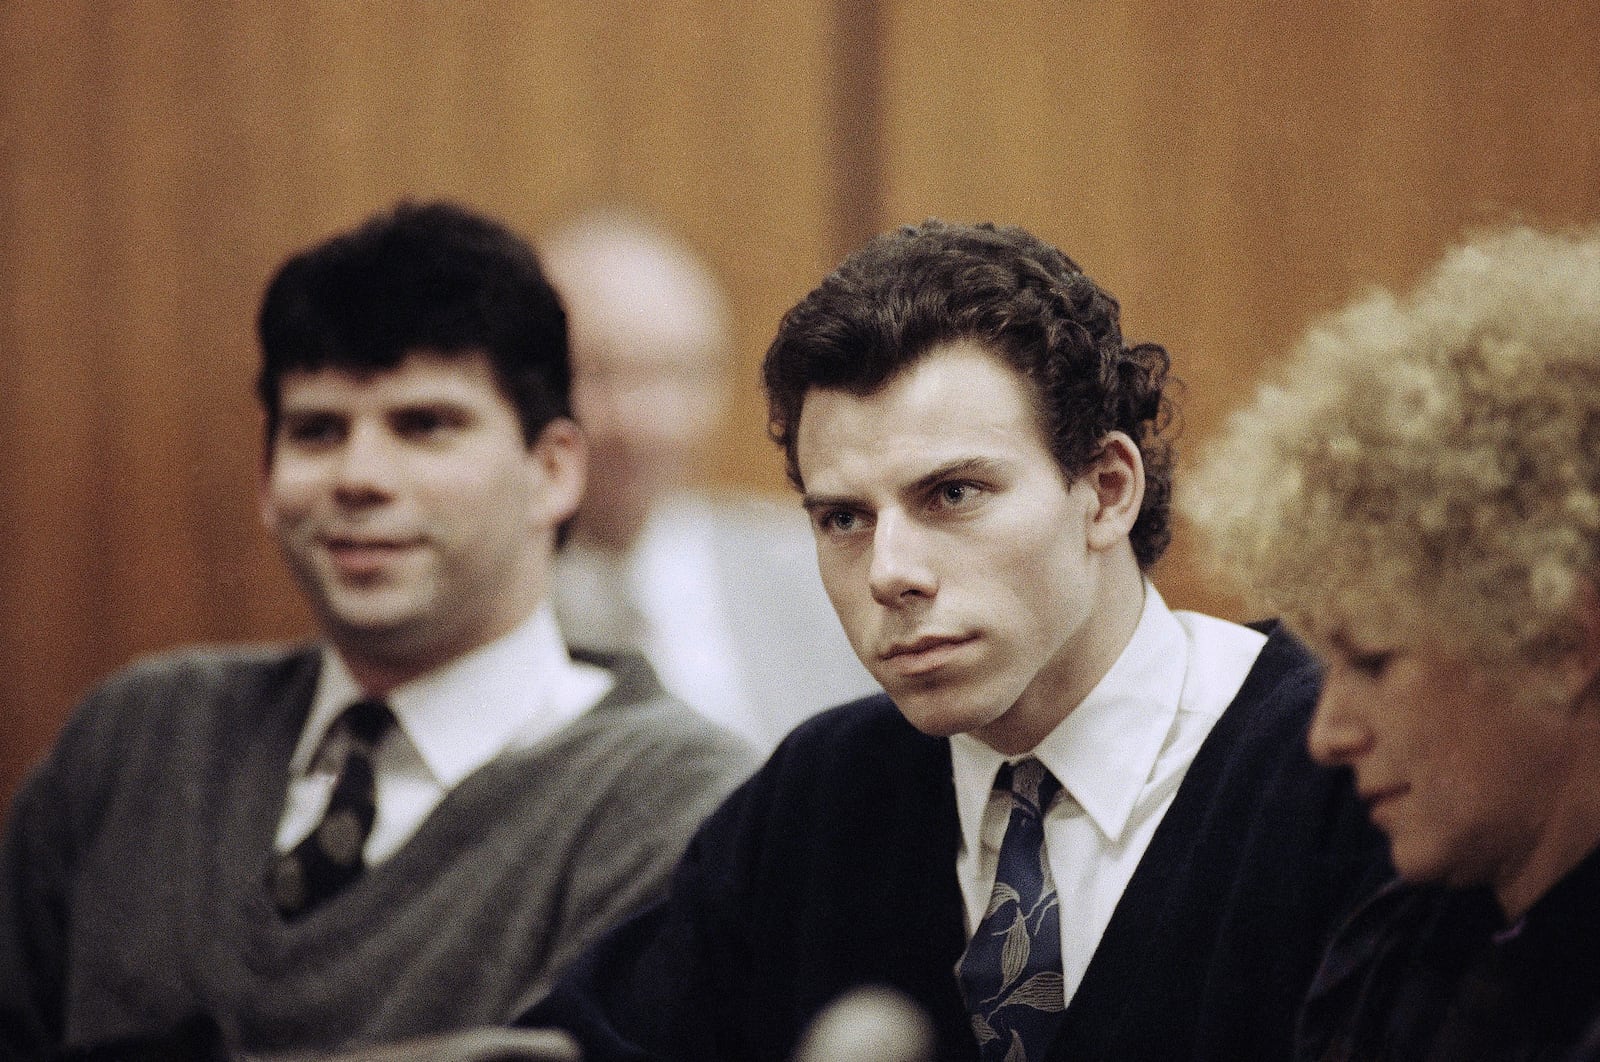
[[[930,219],[883,234],[790,309],[766,350],[768,430],[803,489],[795,454],[811,389],[869,395],[933,347],[968,339],[1002,357],[1035,398],[1069,480],[1125,432],[1144,457],[1144,505],[1131,533],[1141,568],[1171,541],[1170,357],[1125,345],[1117,299],[1035,235]]]

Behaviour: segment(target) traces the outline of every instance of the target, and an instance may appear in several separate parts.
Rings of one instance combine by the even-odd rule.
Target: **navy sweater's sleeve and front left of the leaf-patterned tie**
[[[789,1062],[818,1012],[877,984],[928,1011],[941,1059],[974,1057],[954,804],[949,744],[888,697],[822,712],[706,819],[667,896],[517,1024],[573,1033],[586,1062]]]

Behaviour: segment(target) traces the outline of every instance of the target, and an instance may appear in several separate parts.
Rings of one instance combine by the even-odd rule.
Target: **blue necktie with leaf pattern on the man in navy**
[[[1061,905],[1045,856],[1045,812],[1061,782],[1038,760],[1005,765],[1011,793],[989,910],[955,964],[984,1062],[1040,1062],[1066,1011]]]

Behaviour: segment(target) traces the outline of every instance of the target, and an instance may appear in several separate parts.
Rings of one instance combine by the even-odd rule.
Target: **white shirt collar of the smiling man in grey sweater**
[[[387,702],[435,781],[451,789],[504,749],[555,733],[611,681],[608,672],[568,656],[544,605],[496,641],[397,686]],[[339,653],[325,646],[310,715],[290,761],[293,774],[310,768],[328,726],[362,696]]]

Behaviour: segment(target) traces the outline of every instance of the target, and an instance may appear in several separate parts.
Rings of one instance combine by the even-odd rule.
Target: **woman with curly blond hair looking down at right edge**
[[[1301,1057],[1565,1057],[1600,1017],[1600,230],[1483,237],[1323,321],[1192,509],[1325,657],[1310,750],[1402,876]]]

